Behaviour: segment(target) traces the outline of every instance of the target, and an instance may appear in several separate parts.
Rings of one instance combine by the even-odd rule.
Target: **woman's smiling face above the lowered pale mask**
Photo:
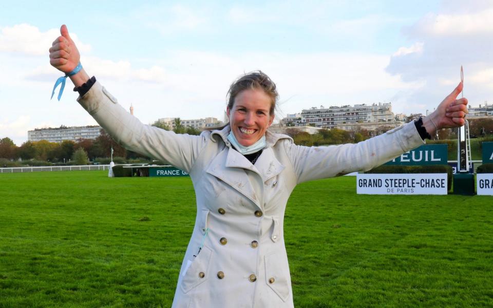
[[[236,95],[233,108],[226,109],[233,134],[242,146],[257,142],[274,121],[269,114],[271,98],[263,90],[248,89]]]

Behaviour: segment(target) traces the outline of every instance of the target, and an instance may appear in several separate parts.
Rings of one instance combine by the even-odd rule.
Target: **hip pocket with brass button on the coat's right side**
[[[289,297],[289,266],[288,261],[283,262],[282,256],[272,253],[264,257],[266,264],[266,283],[282,299]]]

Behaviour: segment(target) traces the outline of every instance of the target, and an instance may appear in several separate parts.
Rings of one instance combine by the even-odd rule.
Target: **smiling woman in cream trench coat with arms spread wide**
[[[77,47],[62,26],[50,63],[70,73]],[[174,307],[292,307],[283,238],[286,203],[296,184],[368,170],[423,144],[436,129],[464,124],[459,86],[423,121],[358,144],[304,147],[267,130],[278,97],[262,72],[232,84],[221,130],[200,136],[143,125],[81,69],[70,75],[79,103],[126,148],[189,173],[197,217],[181,266]]]

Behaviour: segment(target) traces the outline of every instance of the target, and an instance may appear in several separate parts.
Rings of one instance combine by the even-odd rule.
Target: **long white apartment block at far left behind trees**
[[[74,126],[59,128],[35,128],[27,132],[28,141],[47,140],[61,143],[64,140],[78,141],[79,139],[96,139],[99,137],[101,126]]]

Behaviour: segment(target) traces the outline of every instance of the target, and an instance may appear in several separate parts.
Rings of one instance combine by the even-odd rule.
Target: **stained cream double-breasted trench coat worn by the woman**
[[[324,147],[267,132],[253,165],[231,148],[229,126],[189,136],[143,125],[98,82],[78,101],[126,148],[166,161],[193,181],[197,217],[175,308],[293,307],[283,219],[296,184],[368,170],[423,144],[413,123],[358,144]]]

